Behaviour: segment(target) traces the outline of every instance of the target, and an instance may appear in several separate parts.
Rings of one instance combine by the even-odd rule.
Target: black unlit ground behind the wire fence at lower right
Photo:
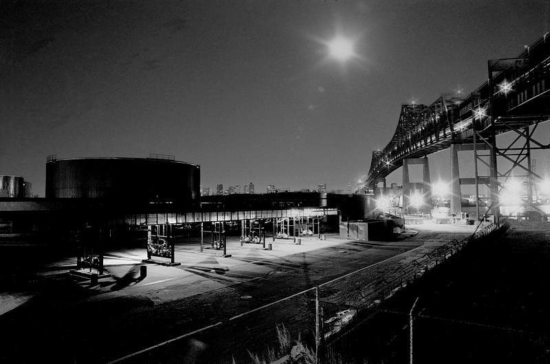
[[[511,222],[388,300],[343,363],[550,363],[550,224]]]

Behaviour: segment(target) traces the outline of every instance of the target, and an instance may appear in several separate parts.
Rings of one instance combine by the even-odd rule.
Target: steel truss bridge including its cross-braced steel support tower
[[[373,151],[366,185],[385,183],[385,177],[403,166],[405,159],[469,144],[473,148],[467,150],[474,150],[476,181],[463,183],[458,171],[453,181],[475,184],[476,192],[479,183],[489,185],[492,213],[498,218],[498,190],[503,185],[499,178],[507,179],[511,170],[520,169],[530,182],[541,179],[532,166],[531,150],[550,148],[549,143],[534,138],[538,125],[550,120],[549,68],[550,32],[515,58],[488,60],[488,81],[469,95],[443,93],[430,105],[402,105],[391,141],[384,149]],[[497,146],[496,135],[503,133],[514,133],[515,139],[507,146]],[[489,161],[478,155],[478,150],[489,150]],[[511,163],[511,168],[498,170],[497,157]],[[478,176],[478,163],[489,167],[489,176]],[[527,185],[528,202],[533,205],[532,183]],[[460,198],[459,190],[453,192]]]

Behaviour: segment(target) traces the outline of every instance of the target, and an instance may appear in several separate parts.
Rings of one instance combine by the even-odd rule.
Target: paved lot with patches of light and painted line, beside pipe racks
[[[11,297],[13,309],[0,315],[3,332],[10,332],[3,340],[10,349],[1,356],[10,361],[105,362],[181,337],[126,361],[242,360],[248,356],[245,350],[272,345],[258,338],[276,324],[288,323],[289,330],[298,332],[309,326],[311,295],[285,297],[365,266],[373,267],[362,271],[364,275],[384,274],[388,266],[473,231],[471,226],[452,225],[414,228],[419,234],[396,242],[328,236],[327,240],[303,238],[301,245],[278,240],[272,251],[263,250],[261,244],[241,247],[232,240],[230,258],[199,253],[196,243],[181,242],[176,247],[181,266],[147,264],[143,280],[139,267],[144,249],[111,251],[105,260],[111,277],[97,286],[61,279],[74,260],[59,260],[43,272],[56,279],[47,280],[39,290],[3,295],[3,302]],[[357,282],[350,284],[359,284],[362,278],[353,277]],[[338,287],[342,282],[327,285],[326,295],[343,291]],[[268,307],[258,309],[263,306]],[[184,336],[208,326],[214,327]]]

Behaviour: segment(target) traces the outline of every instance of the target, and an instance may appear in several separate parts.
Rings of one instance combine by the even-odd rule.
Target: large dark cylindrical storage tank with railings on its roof
[[[199,198],[200,166],[170,159],[78,158],[46,163],[47,198],[184,202]]]

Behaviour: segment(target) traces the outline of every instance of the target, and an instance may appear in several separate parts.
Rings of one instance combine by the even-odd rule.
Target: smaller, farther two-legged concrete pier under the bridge
[[[410,182],[408,166],[422,165],[422,181]],[[429,213],[432,204],[432,187],[428,157],[403,159],[403,211],[404,214]]]

